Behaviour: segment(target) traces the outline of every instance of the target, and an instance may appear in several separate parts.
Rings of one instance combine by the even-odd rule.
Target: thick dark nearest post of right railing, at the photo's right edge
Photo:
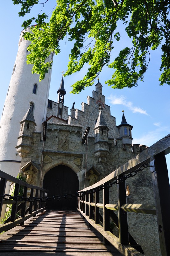
[[[161,254],[170,255],[170,187],[166,158],[163,153],[155,155],[151,162],[153,190],[155,195]]]

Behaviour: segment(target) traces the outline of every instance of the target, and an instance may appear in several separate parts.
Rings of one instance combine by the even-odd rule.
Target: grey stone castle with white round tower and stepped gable
[[[145,150],[144,145],[132,145],[133,126],[127,123],[124,112],[121,124],[116,125],[99,80],[81,110],[73,103],[68,114],[63,76],[58,101],[48,99],[51,70],[40,83],[39,76],[31,74],[32,67],[26,64],[29,41],[22,35],[0,123],[0,170],[15,177],[22,172],[28,183],[49,189],[49,196],[63,196],[94,184]],[[147,183],[140,178],[138,184],[134,179],[128,181],[127,200],[132,203],[140,197],[153,203],[150,174],[140,175],[147,177]],[[48,207],[65,208],[66,202],[49,202]],[[75,209],[76,199],[74,203],[67,200],[67,207]],[[149,222],[154,221],[151,216]],[[133,233],[143,232],[143,228],[135,231],[134,222],[130,223]],[[143,223],[148,224],[148,220]],[[155,237],[156,233],[149,238],[153,247]]]

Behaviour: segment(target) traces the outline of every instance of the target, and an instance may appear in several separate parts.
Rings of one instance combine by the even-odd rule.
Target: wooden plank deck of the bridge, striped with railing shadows
[[[0,235],[0,255],[120,256],[78,212],[45,211]]]

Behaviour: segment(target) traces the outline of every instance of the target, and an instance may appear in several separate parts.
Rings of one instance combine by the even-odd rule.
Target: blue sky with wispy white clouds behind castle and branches
[[[55,0],[48,1],[48,12],[52,10]],[[25,18],[18,16],[20,11],[19,5],[13,5],[12,0],[0,2],[1,14],[1,94],[0,94],[0,112],[2,113],[7,89],[10,83],[11,74],[18,52],[18,40],[22,30],[21,24]],[[37,10],[32,10],[37,13]],[[32,17],[32,16],[31,16]],[[27,16],[26,19],[30,18]],[[118,28],[123,30],[122,25]],[[117,52],[128,45],[130,39],[123,36],[122,41],[117,42],[114,48],[113,57]],[[125,45],[125,46],[126,46]],[[49,99],[57,101],[57,90],[61,82],[62,71],[67,70],[67,61],[70,46],[67,42],[61,45],[61,53],[54,57],[52,79],[50,86]],[[103,85],[103,95],[106,96],[106,104],[111,106],[111,115],[116,117],[116,124],[119,125],[122,119],[122,110],[126,121],[133,126],[132,137],[133,143],[151,146],[159,139],[170,133],[170,86],[159,86],[159,67],[161,63],[161,50],[151,51],[151,62],[145,74],[144,82],[139,82],[138,87],[112,89],[104,82],[111,78],[112,70],[104,67],[99,79]],[[87,96],[92,96],[95,86],[87,87],[77,95],[70,94],[71,85],[85,74],[85,70],[64,77],[64,84],[67,94],[64,99],[66,106],[71,109],[73,102],[75,108],[81,109],[81,102],[87,103]],[[97,80],[96,80],[97,83]],[[95,83],[95,84],[96,84]],[[167,157],[167,164],[170,171],[170,156]]]

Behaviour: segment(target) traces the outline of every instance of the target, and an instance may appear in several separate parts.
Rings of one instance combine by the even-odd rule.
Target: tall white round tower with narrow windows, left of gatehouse
[[[36,131],[42,132],[51,80],[51,69],[41,82],[39,75],[31,73],[32,65],[26,64],[30,41],[25,40],[22,35],[23,31],[19,38],[18,53],[0,121],[0,170],[15,177],[19,173],[21,161],[15,148],[20,130],[19,122],[25,116],[29,102],[32,101]]]

